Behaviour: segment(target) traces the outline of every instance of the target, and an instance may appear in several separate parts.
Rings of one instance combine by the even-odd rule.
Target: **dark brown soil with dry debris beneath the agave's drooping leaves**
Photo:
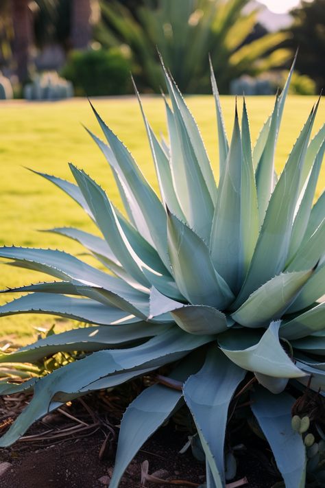
[[[64,406],[63,413],[47,415],[25,434],[36,438],[25,437],[11,448],[1,449],[0,488],[107,487],[114,466],[122,413],[120,407],[122,405],[123,408],[124,400],[126,406],[130,395],[129,391],[122,393],[119,397],[108,397],[108,400],[98,395],[84,397],[84,400],[73,402],[71,406]],[[26,398],[21,397],[18,410],[21,410],[25,401]],[[14,418],[19,413],[10,411],[11,405],[10,402],[3,404],[1,400],[0,429],[6,419]],[[71,417],[67,417],[67,413]],[[87,430],[76,420],[86,423],[90,428]],[[71,427],[78,426],[78,432],[69,434]],[[149,474],[165,480],[163,485],[147,481],[147,488],[164,488],[168,486],[168,480],[178,481],[177,484],[169,484],[171,487],[202,485],[205,481],[204,464],[193,457],[191,449],[179,454],[187,436],[188,431],[185,432],[182,426],[169,421],[143,445],[129,465],[120,488],[143,488],[141,465],[144,461],[149,463]],[[248,484],[242,485],[244,488],[271,488],[278,478],[274,476],[269,458],[261,455],[256,439],[248,439],[248,442],[250,445],[246,444],[245,448],[236,453],[238,468],[234,480],[246,477]],[[2,475],[1,467],[7,467]],[[183,484],[182,480],[189,483]]]

